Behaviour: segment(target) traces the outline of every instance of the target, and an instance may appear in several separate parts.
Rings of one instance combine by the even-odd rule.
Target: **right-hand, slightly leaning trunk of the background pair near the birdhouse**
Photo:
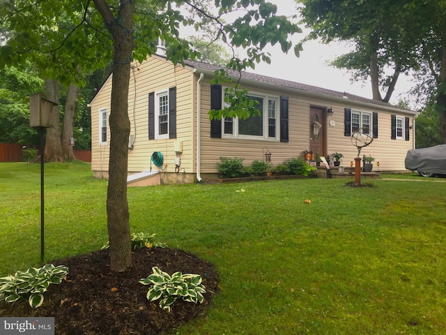
[[[73,129],[75,128],[76,101],[79,96],[79,91],[80,88],[75,84],[70,84],[70,86],[68,86],[61,135],[63,158],[65,158],[66,161],[73,161],[75,159],[75,154],[70,145],[70,138],[73,137]]]

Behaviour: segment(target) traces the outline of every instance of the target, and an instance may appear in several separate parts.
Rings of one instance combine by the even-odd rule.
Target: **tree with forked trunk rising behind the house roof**
[[[355,47],[333,65],[351,70],[354,80],[370,80],[374,100],[389,102],[399,75],[417,67],[416,47],[406,43],[401,24],[403,1],[296,1],[303,4],[302,22],[313,29],[309,39],[343,40]]]

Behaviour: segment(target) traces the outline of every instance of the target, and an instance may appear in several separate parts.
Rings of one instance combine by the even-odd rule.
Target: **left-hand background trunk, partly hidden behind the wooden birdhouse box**
[[[45,140],[45,162],[63,162],[61,146],[61,129],[59,116],[59,82],[54,79],[45,80],[45,96],[47,100],[57,103],[52,110],[53,126],[47,128]]]

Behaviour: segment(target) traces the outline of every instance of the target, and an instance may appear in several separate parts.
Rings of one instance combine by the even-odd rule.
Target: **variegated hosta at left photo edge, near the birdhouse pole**
[[[13,276],[0,278],[0,301],[14,302],[24,297],[32,308],[37,308],[43,304],[43,292],[49,284],[60,284],[66,274],[68,267],[52,264],[17,271]]]

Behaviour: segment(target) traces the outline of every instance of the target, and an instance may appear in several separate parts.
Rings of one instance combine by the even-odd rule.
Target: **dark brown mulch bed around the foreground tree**
[[[0,303],[1,316],[54,317],[56,334],[164,334],[204,315],[217,293],[218,273],[209,262],[170,248],[142,248],[133,253],[133,267],[112,272],[108,251],[56,260],[69,268],[66,281],[50,285],[43,305],[33,309],[27,301]],[[206,286],[203,304],[178,300],[171,311],[146,299],[148,285],[139,283],[152,267],[173,274],[200,274]]]

